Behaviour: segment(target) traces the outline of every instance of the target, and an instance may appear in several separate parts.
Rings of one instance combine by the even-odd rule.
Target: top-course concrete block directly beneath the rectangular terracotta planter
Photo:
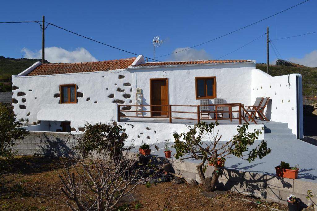
[[[278,189],[287,192],[293,192],[294,180],[283,177],[273,177],[270,175],[266,176],[267,185],[271,189]]]

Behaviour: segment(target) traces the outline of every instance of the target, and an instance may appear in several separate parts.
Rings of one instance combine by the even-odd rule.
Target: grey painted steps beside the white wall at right
[[[288,128],[288,123],[269,121],[264,124],[264,140],[296,139],[296,135]]]

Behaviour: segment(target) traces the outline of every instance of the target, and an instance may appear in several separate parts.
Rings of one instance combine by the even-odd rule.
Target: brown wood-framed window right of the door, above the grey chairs
[[[196,77],[196,99],[214,99],[217,97],[216,77]]]

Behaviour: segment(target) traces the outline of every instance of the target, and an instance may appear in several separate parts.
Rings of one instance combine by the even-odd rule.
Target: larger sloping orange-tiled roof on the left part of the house
[[[82,62],[82,63],[50,63],[42,64],[31,71],[28,76],[38,75],[55,75],[77,72],[94,72],[125,69],[132,65],[136,57],[128,59],[117,59],[99,62]]]

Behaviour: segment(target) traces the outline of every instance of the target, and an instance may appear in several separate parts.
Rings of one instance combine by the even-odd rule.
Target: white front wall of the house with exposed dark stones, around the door
[[[111,103],[135,105],[135,88],[144,94],[143,104],[150,104],[150,78],[169,79],[169,104],[198,105],[195,77],[216,76],[217,97],[227,103],[250,103],[251,70],[255,63],[129,68],[129,70],[71,73],[48,76],[12,76],[14,112],[30,123],[38,121],[37,113],[44,104],[59,104],[60,84],[77,84],[78,104]],[[212,103],[211,100],[210,103]],[[126,107],[121,109],[132,109]],[[197,111],[196,108],[183,108]],[[191,110],[192,109],[192,110]],[[212,109],[212,108],[211,108]],[[182,108],[178,108],[182,110]],[[124,112],[134,115],[134,112]],[[150,115],[146,113],[145,115]],[[176,116],[177,114],[173,114]],[[182,115],[181,115],[182,116]],[[184,115],[183,115],[184,116]],[[43,117],[43,116],[42,116]],[[42,118],[41,117],[41,118]],[[189,117],[187,115],[186,117]],[[192,117],[196,118],[195,115]],[[41,120],[45,120],[43,117]],[[66,120],[66,119],[65,119]]]

